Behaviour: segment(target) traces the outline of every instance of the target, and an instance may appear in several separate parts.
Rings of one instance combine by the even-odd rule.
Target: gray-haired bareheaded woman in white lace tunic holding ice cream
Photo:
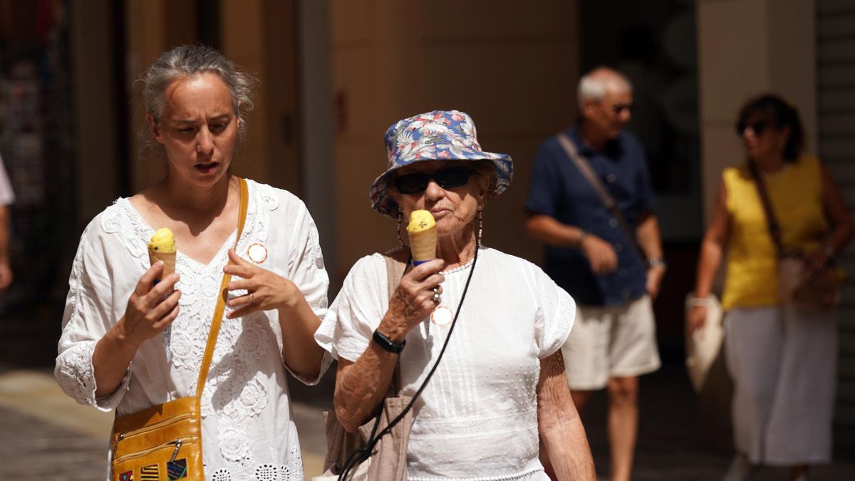
[[[78,402],[120,416],[192,395],[223,273],[233,274],[201,398],[204,478],[295,480],[304,474],[286,369],[313,383],[328,365],[311,341],[328,279],[315,223],[291,193],[246,181],[235,239],[240,180],[229,166],[250,83],[200,45],[169,50],[144,75],[168,172],[85,229],[55,374]],[[147,244],[162,227],[174,232],[175,273],[152,287],[162,263],[150,265]]]

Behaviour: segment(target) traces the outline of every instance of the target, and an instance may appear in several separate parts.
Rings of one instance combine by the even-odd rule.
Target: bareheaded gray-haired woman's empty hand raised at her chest
[[[229,307],[239,307],[226,316],[228,319],[246,316],[252,312],[269,311],[297,306],[303,293],[294,282],[270,270],[262,269],[241,258],[234,249],[228,251],[232,264],[227,264],[223,272],[238,276],[228,283],[229,292],[246,290],[247,293],[226,303]]]

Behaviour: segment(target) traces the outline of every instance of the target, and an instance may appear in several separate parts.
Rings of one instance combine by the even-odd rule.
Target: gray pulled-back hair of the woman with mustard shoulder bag
[[[240,71],[225,56],[206,45],[180,45],[161,54],[139,78],[142,84],[145,111],[157,124],[161,122],[166,105],[166,91],[175,80],[196,74],[216,74],[232,93],[234,115],[238,117],[238,138],[246,133],[244,114],[252,110],[252,75]]]

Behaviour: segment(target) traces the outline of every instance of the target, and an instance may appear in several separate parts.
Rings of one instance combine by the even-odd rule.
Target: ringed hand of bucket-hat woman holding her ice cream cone
[[[380,331],[394,341],[404,339],[416,325],[422,322],[439,304],[433,301],[433,288],[442,294],[445,276],[439,270],[445,267],[442,259],[433,259],[419,264],[401,278],[389,300],[389,310],[380,323]]]

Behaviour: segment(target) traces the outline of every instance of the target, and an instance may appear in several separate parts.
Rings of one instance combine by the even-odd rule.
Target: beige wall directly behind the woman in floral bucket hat
[[[385,170],[383,133],[433,109],[469,112],[481,145],[514,158],[512,186],[486,208],[485,243],[539,260],[522,204],[537,145],[575,111],[575,1],[333,0],[331,15],[339,254],[331,276],[397,245],[394,223],[368,198]]]

